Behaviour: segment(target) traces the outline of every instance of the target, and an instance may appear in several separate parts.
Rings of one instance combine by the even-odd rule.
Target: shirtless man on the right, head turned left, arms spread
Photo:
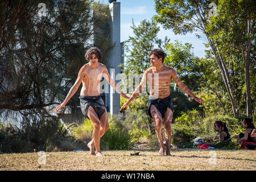
[[[189,96],[195,99],[195,101],[200,104],[204,104],[203,100],[196,97],[195,94],[188,89],[188,87],[180,81],[175,69],[163,65],[164,53],[161,49],[154,49],[150,53],[150,63],[151,68],[147,69],[142,77],[141,83],[134,90],[130,99],[123,104],[120,110],[125,108],[134,100],[135,97],[142,92],[142,88],[148,84],[150,86],[150,96],[148,98],[148,115],[154,119],[156,123],[156,134],[158,135],[160,150],[159,155],[164,155],[164,143],[163,143],[163,133],[162,126],[164,123],[165,138],[166,138],[166,155],[170,154],[171,145],[171,122],[172,122],[172,101],[170,96],[170,83],[171,80],[176,82],[183,92],[187,93]]]

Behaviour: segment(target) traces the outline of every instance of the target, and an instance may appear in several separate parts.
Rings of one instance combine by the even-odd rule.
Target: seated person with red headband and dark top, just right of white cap
[[[214,122],[214,130],[220,133],[220,143],[226,142],[227,144],[231,142],[230,134],[228,128],[226,127],[226,123],[222,121]]]

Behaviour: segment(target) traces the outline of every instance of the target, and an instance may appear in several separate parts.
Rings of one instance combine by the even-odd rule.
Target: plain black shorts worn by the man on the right
[[[152,115],[151,115],[151,112],[150,112],[151,105],[156,106],[156,109],[159,110],[159,112],[162,115],[162,118],[163,118],[164,113],[166,113],[166,111],[167,111],[167,107],[169,107],[172,111],[174,110],[174,108],[172,106],[171,94],[170,94],[170,96],[168,96],[166,98],[158,98],[158,99],[155,99],[155,100],[148,99],[147,113],[152,118]]]

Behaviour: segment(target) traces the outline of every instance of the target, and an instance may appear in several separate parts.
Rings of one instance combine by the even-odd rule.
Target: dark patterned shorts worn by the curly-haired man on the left
[[[80,96],[79,98],[82,114],[84,114],[86,118],[90,119],[87,115],[89,106],[93,107],[98,118],[101,118],[102,114],[104,114],[106,110],[104,101],[102,100],[101,96]]]

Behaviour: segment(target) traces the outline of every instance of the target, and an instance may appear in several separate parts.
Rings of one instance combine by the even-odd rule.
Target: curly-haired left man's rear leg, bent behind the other
[[[100,128],[100,138],[101,138],[109,129],[108,114],[106,110],[100,118],[100,125],[101,125],[101,128]],[[87,144],[87,146],[90,148],[90,154],[95,155],[93,139]]]

